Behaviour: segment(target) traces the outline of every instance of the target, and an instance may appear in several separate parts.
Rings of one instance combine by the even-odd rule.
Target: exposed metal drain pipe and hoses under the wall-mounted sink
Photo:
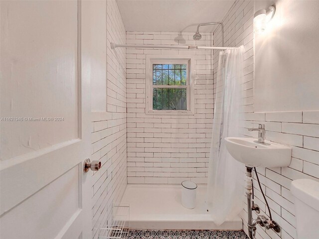
[[[265,227],[266,229],[273,229],[276,233],[280,232],[280,227],[279,225],[272,220],[271,218],[271,213],[270,213],[270,209],[268,206],[268,202],[266,200],[266,197],[264,195],[264,192],[261,188],[260,182],[259,182],[259,178],[257,175],[257,171],[255,168],[255,173],[257,176],[257,180],[258,180],[258,184],[260,187],[260,190],[263,194],[263,197],[265,199],[267,208],[269,210],[269,214],[270,214],[270,219],[267,219],[265,216],[259,215],[257,217],[257,219],[253,220],[253,211],[256,211],[257,214],[260,213],[260,209],[258,207],[258,205],[253,204],[251,202],[251,196],[252,196],[252,189],[253,189],[253,178],[252,178],[252,167],[246,167],[247,171],[246,171],[246,185],[245,185],[245,189],[246,189],[246,196],[247,196],[247,212],[248,212],[248,236],[250,239],[255,239],[255,235],[256,235],[256,225],[259,224],[261,227]]]

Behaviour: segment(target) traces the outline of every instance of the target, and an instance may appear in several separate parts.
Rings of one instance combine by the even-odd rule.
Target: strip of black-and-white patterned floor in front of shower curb
[[[243,231],[132,230],[124,239],[248,239]]]

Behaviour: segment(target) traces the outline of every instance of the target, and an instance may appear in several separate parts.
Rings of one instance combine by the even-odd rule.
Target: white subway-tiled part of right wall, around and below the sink
[[[292,180],[300,178],[319,180],[319,112],[254,113],[254,12],[253,1],[237,0],[223,19],[225,45],[245,46],[245,127],[256,127],[258,123],[264,123],[267,140],[287,144],[293,149],[289,167],[257,168],[273,219],[282,227],[282,231],[277,234],[273,230],[265,231],[258,226],[256,239],[297,239],[294,199],[290,193],[290,185]],[[220,45],[220,28],[214,32],[214,38],[215,45]],[[218,51],[215,51],[214,79],[217,76],[217,66]],[[247,130],[246,136],[257,137],[257,133]],[[267,212],[265,202],[256,180],[254,180],[254,189],[255,203],[265,214]],[[244,210],[241,216],[244,220],[244,231],[248,233],[246,206]],[[254,214],[254,218],[256,217]]]

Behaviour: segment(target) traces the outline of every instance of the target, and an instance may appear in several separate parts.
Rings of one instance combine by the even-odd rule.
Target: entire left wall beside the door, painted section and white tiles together
[[[91,160],[102,162],[92,179],[92,237],[97,239],[98,230],[110,219],[112,203],[120,201],[127,184],[126,52],[110,48],[111,42],[125,44],[126,31],[115,0],[92,1],[91,7],[96,37],[92,95],[97,98],[92,101]]]

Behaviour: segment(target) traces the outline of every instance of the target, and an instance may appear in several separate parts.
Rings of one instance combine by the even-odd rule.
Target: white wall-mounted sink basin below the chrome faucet
[[[265,140],[270,145],[254,142],[256,138],[226,137],[226,148],[233,158],[247,167],[288,167],[291,161],[290,147]]]

